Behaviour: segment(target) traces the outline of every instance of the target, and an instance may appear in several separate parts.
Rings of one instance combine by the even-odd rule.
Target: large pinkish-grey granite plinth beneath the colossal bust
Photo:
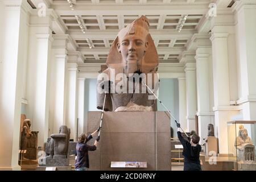
[[[100,118],[100,111],[88,112],[88,134]],[[90,170],[171,170],[170,138],[170,117],[164,111],[105,112],[99,146],[89,151]],[[147,162],[147,168],[110,168],[118,161]]]

